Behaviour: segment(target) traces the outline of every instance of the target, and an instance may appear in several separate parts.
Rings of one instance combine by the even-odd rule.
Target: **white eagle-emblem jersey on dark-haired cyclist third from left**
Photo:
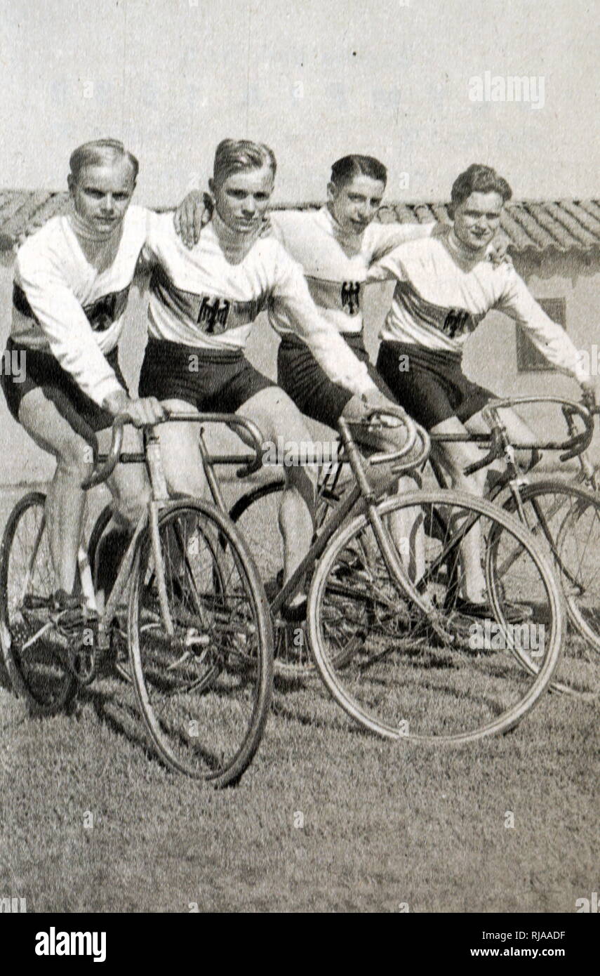
[[[429,237],[438,224],[369,224],[362,234],[347,234],[327,207],[275,210],[273,236],[301,264],[308,291],[321,314],[341,333],[363,328],[363,292],[374,261],[407,241]],[[269,310],[273,328],[294,332],[287,309]]]

